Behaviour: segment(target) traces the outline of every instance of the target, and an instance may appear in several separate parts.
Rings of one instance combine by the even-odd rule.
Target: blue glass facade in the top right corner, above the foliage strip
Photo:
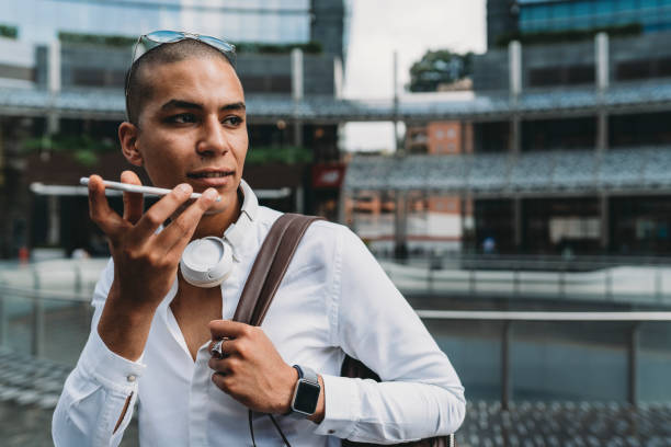
[[[644,32],[671,30],[671,0],[520,0],[523,33],[640,24]]]

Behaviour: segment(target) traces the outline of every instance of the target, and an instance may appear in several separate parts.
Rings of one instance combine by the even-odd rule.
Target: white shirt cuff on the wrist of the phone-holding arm
[[[137,362],[130,362],[113,353],[102,341],[98,330],[93,330],[82,351],[80,366],[103,387],[127,392],[137,387],[137,380],[145,371],[143,356]]]

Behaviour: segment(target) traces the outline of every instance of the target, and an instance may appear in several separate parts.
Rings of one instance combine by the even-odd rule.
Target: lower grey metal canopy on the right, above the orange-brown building
[[[669,194],[671,147],[519,156],[354,157],[348,191],[429,191],[479,197]]]

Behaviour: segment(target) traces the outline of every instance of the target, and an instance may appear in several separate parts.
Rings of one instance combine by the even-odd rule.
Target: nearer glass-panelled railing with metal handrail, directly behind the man
[[[89,301],[90,295],[84,293],[1,286],[0,334],[2,339],[0,344],[14,349],[29,349],[35,357],[73,365],[90,331],[91,307]],[[12,303],[13,310],[11,309]],[[600,365],[596,366],[596,369],[604,376],[612,373],[612,366],[609,365],[613,364],[613,359],[616,365],[619,365],[616,369],[626,369],[626,371],[617,373],[617,376],[626,377],[626,382],[621,383],[616,379],[611,379],[613,383],[610,391],[603,391],[598,397],[585,392],[581,400],[607,398],[609,400],[626,400],[636,405],[640,401],[641,369],[646,375],[655,369],[657,371],[655,374],[660,377],[671,376],[671,348],[669,347],[671,344],[668,343],[671,341],[671,324],[669,324],[671,312],[513,312],[420,309],[417,310],[417,313],[424,321],[441,348],[455,364],[467,390],[477,391],[481,383],[475,382],[474,385],[470,379],[486,370],[490,377],[487,385],[500,390],[499,399],[503,408],[508,408],[514,400],[515,389],[520,388],[520,383],[527,380],[530,373],[524,368],[546,370],[558,366],[566,367],[560,360],[553,358],[555,355],[559,355],[560,358],[566,357],[566,349],[571,352],[569,358],[585,356],[585,349],[589,353],[605,355],[606,358],[600,360]],[[641,331],[647,334],[646,331],[649,331],[651,324],[662,324],[661,339],[666,347],[655,348],[657,349],[655,355],[661,356],[664,362],[658,362],[649,367],[641,366]],[[47,328],[50,329],[47,330]],[[30,343],[26,344],[26,341],[23,340],[20,341],[23,342],[23,345],[18,344],[16,336],[27,337]],[[621,340],[621,343],[611,343],[612,337]],[[659,337],[659,334],[656,334],[656,337]],[[646,335],[645,340],[648,339],[650,337]],[[487,346],[480,349],[477,346],[482,346],[482,341]],[[541,356],[543,358],[536,358],[534,354],[536,352],[544,353]],[[645,352],[649,352],[648,347]],[[589,358],[581,359],[580,365],[582,362],[588,363]],[[494,376],[497,379],[493,379]],[[649,387],[649,383],[645,385]],[[561,390],[564,386],[568,386],[570,390]],[[551,392],[570,396],[580,392],[580,385],[570,381],[561,381],[557,385],[541,381],[541,385],[536,387],[539,396]],[[609,398],[611,393],[614,397]],[[660,396],[661,399],[671,401],[671,394]]]

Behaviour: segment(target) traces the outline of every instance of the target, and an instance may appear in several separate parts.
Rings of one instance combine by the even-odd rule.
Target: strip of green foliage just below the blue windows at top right
[[[543,31],[537,33],[507,33],[497,37],[496,45],[507,46],[511,41],[520,41],[524,45],[534,44],[557,44],[561,42],[577,42],[594,38],[598,33],[606,33],[610,36],[637,36],[642,33],[640,23],[627,25],[602,26],[590,30],[565,30],[565,31]]]

